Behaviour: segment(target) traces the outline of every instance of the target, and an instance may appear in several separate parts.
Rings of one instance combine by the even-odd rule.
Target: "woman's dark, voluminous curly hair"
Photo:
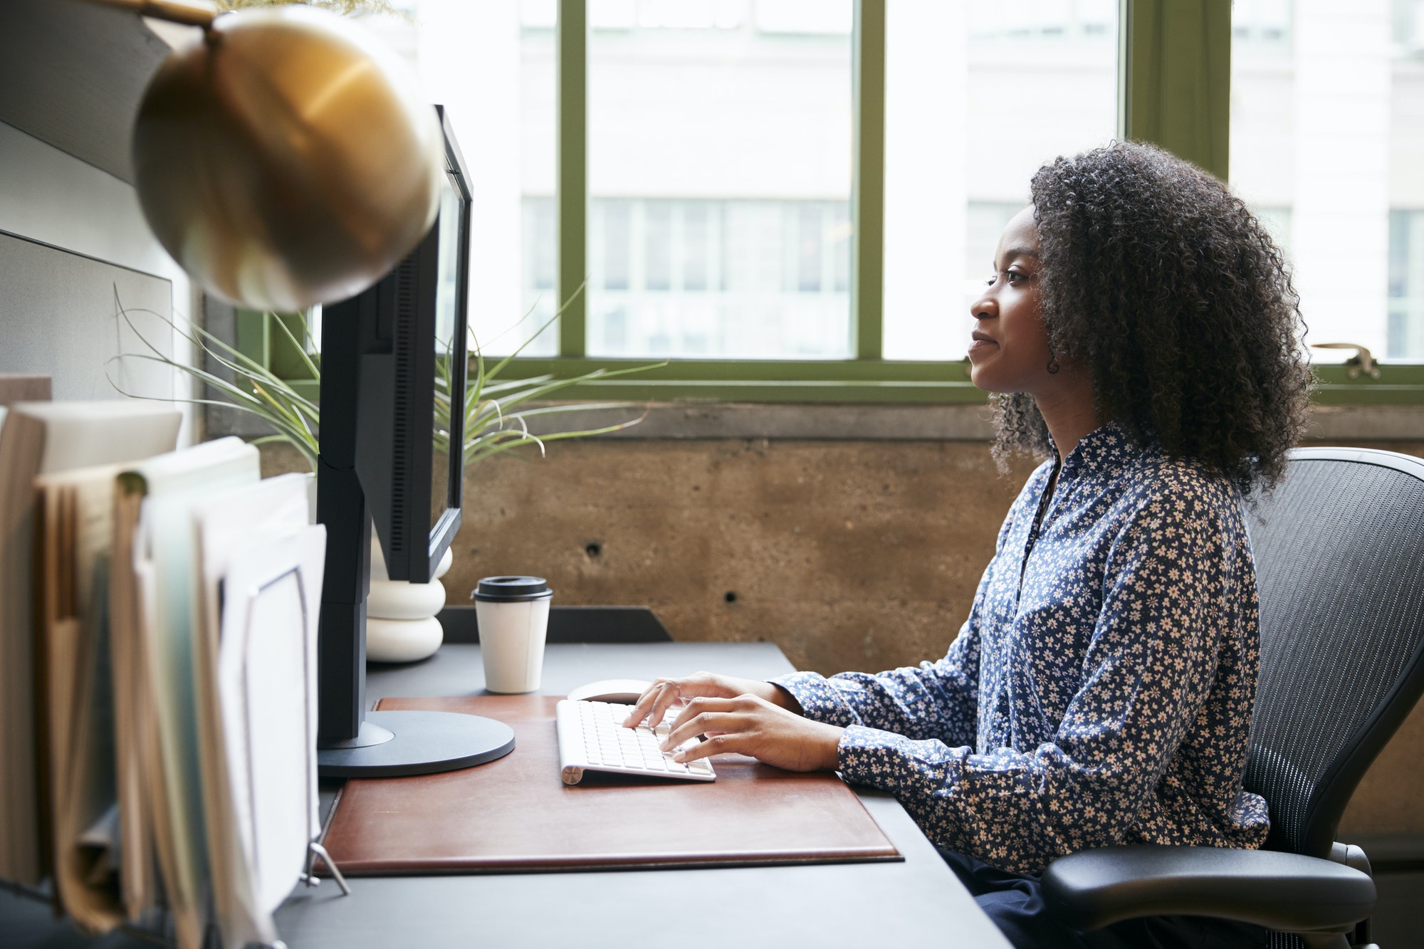
[[[1048,342],[1088,368],[1098,418],[1243,494],[1279,482],[1312,373],[1284,256],[1240,198],[1116,142],[1040,168],[1032,204]],[[1032,396],[995,398],[995,416],[998,457],[1048,453]]]

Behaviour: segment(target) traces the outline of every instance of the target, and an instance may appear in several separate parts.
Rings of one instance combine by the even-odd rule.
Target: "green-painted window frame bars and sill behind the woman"
[[[1118,0],[1118,137],[1152,141],[1220,178],[1229,170],[1230,0]],[[850,322],[853,356],[836,361],[672,359],[634,376],[565,389],[570,399],[980,403],[967,361],[883,358],[884,95],[887,0],[854,0]],[[557,286],[558,356],[518,358],[506,378],[577,376],[648,359],[590,358],[588,0],[558,0]],[[239,316],[239,349],[273,368],[289,343],[259,315]],[[244,332],[245,331],[245,332]],[[295,361],[293,361],[295,362]],[[1316,368],[1320,405],[1424,403],[1424,365],[1387,363],[1378,378],[1349,365]]]

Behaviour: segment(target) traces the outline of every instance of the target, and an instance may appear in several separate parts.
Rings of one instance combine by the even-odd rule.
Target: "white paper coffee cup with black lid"
[[[554,591],[543,577],[486,577],[470,594],[480,623],[484,688],[534,693],[544,677],[544,637]]]

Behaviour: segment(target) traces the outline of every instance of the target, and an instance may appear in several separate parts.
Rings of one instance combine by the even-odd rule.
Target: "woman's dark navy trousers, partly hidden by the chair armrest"
[[[1078,932],[1048,912],[1037,876],[953,851],[940,855],[1015,949],[1242,949],[1269,939],[1260,926],[1206,916],[1145,916]]]

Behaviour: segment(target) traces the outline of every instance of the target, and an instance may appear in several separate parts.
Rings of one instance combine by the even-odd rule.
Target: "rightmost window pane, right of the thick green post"
[[[1388,0],[1233,6],[1232,190],[1292,261],[1307,342],[1424,359],[1418,13]]]

